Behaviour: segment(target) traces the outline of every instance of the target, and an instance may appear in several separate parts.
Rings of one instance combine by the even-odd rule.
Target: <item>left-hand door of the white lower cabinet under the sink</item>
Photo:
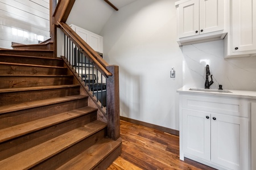
[[[183,151],[210,160],[210,114],[182,110]]]

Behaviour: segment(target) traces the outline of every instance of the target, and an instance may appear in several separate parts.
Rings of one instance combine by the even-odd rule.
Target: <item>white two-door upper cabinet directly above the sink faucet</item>
[[[181,0],[177,8],[179,45],[223,39],[228,17],[227,0]]]

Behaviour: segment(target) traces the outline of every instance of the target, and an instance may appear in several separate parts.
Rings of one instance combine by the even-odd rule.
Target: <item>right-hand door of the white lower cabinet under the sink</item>
[[[247,118],[212,114],[211,124],[212,162],[230,169],[248,169],[249,122]]]

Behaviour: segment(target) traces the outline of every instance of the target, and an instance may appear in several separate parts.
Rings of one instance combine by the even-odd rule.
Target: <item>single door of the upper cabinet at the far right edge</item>
[[[253,9],[256,9],[253,0],[232,2],[233,52],[256,50],[256,17]]]

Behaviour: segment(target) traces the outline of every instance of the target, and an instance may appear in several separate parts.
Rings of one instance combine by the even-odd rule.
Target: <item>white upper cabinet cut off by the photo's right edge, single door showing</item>
[[[254,2],[253,2],[254,1]],[[255,0],[230,2],[230,30],[225,38],[226,58],[250,57],[256,54]]]

